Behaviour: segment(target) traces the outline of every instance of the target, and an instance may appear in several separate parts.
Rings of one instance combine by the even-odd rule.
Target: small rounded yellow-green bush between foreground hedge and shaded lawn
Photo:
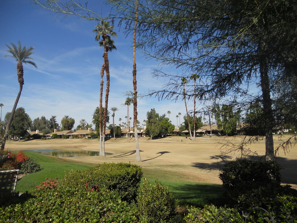
[[[137,196],[137,207],[140,216],[148,223],[177,222],[178,201],[174,199],[168,186],[155,181],[151,185],[144,179],[140,194]]]

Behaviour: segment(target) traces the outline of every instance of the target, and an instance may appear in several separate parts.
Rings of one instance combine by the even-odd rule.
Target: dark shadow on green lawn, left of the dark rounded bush
[[[226,204],[223,196],[223,186],[216,184],[186,184],[184,186],[170,186],[175,199],[180,205],[192,205],[202,208],[206,204],[222,206]]]

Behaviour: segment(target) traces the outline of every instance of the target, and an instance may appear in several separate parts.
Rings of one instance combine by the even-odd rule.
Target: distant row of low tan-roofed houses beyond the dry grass
[[[127,128],[121,129],[121,137],[122,138],[127,138],[128,135],[131,137],[131,135],[134,134],[134,132],[131,129],[130,129],[130,131],[128,131]],[[69,138],[74,138],[75,135],[77,135],[77,137],[88,138],[89,137],[89,134],[91,132],[97,134],[97,132],[96,131],[93,131],[91,128],[81,129],[81,130],[77,130],[75,132],[73,132],[72,130],[57,131],[57,129],[54,129],[54,132],[53,133],[46,134],[46,135],[44,135],[44,137],[46,137],[46,138],[52,138],[53,134],[57,134],[57,138],[63,138],[63,135],[69,135]],[[33,131],[33,132],[29,132],[29,133],[30,133],[30,135],[39,134],[39,135],[43,136],[43,134],[41,132],[39,132],[39,130],[36,130],[36,131]],[[211,132],[210,132],[210,126],[209,125],[203,126],[203,127],[201,127],[201,129],[198,129],[196,131],[196,134],[202,134],[202,135],[209,135],[211,133],[212,134],[218,134],[219,133],[219,131],[217,130],[217,125],[211,126]],[[173,134],[179,135],[180,134],[179,128],[174,129]],[[187,134],[189,134],[189,132],[188,132],[188,130],[185,130],[185,131],[182,131],[181,134],[187,135]],[[145,137],[145,136],[146,136],[145,135],[145,128],[139,129],[138,130],[138,137]],[[106,129],[105,130],[105,137],[107,137],[107,138],[113,137],[110,134],[110,129]]]

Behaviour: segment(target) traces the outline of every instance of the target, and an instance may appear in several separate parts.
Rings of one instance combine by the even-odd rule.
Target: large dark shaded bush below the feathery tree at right
[[[237,159],[220,170],[219,178],[230,204],[246,210],[259,206],[263,197],[275,197],[280,192],[280,169],[273,161]]]

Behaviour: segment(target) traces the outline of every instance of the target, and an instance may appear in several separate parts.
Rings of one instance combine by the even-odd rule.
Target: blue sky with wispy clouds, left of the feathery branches
[[[101,7],[98,1],[88,2],[97,12],[109,11],[108,6]],[[32,120],[41,116],[49,119],[55,115],[60,123],[62,117],[68,115],[75,119],[75,127],[81,119],[91,123],[92,114],[99,105],[100,69],[103,63],[103,48],[95,42],[95,33],[92,33],[97,22],[74,16],[62,19],[62,16],[57,17],[32,3],[29,0],[0,0],[2,119],[6,112],[11,112],[19,91],[16,61],[12,57],[5,57],[8,54],[5,44],[10,45],[12,42],[17,45],[20,41],[23,46],[35,48],[32,59],[38,69],[24,64],[24,87],[18,107],[24,107]],[[127,97],[125,92],[133,91],[132,36],[126,38],[118,27],[114,31],[118,33],[118,38],[114,39],[117,50],[109,53],[109,110],[111,107],[119,109],[115,113],[115,124],[119,124],[118,119],[125,120],[127,115],[127,107],[122,105]],[[165,79],[152,78],[153,68],[157,67],[156,61],[147,61],[140,52],[136,52],[136,64],[139,94],[159,90],[167,83]],[[175,68],[165,69],[166,72],[177,73]],[[179,112],[182,116],[186,113],[183,100],[172,102],[141,98],[138,101],[138,120],[141,124],[151,108],[160,114],[170,111],[170,120],[174,125],[177,124],[175,116]],[[131,117],[132,112],[131,106]]]

